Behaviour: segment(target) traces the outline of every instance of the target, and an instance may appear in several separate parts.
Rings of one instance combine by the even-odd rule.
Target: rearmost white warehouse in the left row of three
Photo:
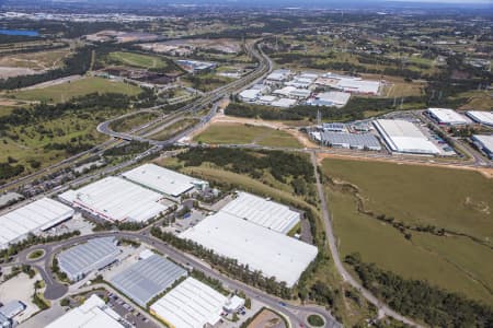
[[[125,172],[122,176],[133,183],[173,199],[193,190],[204,190],[209,186],[207,181],[186,176],[156,164],[140,165]]]

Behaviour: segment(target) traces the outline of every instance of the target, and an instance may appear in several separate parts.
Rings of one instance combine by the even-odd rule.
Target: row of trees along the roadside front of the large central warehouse
[[[249,266],[239,263],[237,259],[231,259],[228,257],[220,256],[214,253],[211,249],[207,249],[204,246],[190,241],[179,238],[172,233],[162,232],[159,227],[152,227],[151,230],[152,236],[169,243],[173,247],[181,249],[183,251],[193,254],[198,258],[205,259],[209,262],[214,268],[218,269],[221,272],[228,273],[230,277],[234,277],[249,285],[259,288],[261,290],[266,291],[270,294],[283,297],[290,298],[291,290],[286,286],[285,282],[278,282],[274,277],[264,277],[262,271],[254,270],[252,271]]]

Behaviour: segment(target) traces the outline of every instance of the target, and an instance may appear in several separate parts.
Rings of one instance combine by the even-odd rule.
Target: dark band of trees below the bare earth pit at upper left
[[[49,70],[41,74],[12,77],[0,80],[0,89],[13,90],[26,87],[69,75],[84,74],[91,66],[91,47],[79,48],[74,55],[67,57],[64,66],[58,69]]]

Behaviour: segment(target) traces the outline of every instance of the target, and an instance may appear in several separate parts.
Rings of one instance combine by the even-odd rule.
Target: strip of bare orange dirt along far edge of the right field
[[[358,157],[356,155],[351,154],[328,154],[328,153],[319,153],[317,154],[318,163],[321,164],[324,159],[343,159],[351,161],[363,161],[363,162],[393,162],[395,164],[403,165],[420,165],[420,166],[432,166],[432,167],[447,167],[454,169],[468,169],[475,171],[481,173],[484,177],[491,179],[493,178],[493,168],[488,167],[472,167],[472,166],[458,166],[452,164],[440,164],[440,163],[425,163],[425,162],[411,162],[411,161],[402,161],[401,159],[392,159],[392,157]]]

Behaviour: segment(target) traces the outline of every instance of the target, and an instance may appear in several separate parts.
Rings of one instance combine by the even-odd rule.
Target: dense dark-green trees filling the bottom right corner
[[[493,327],[493,309],[486,305],[365,263],[359,254],[346,256],[345,262],[354,268],[366,289],[398,313],[435,327]]]

